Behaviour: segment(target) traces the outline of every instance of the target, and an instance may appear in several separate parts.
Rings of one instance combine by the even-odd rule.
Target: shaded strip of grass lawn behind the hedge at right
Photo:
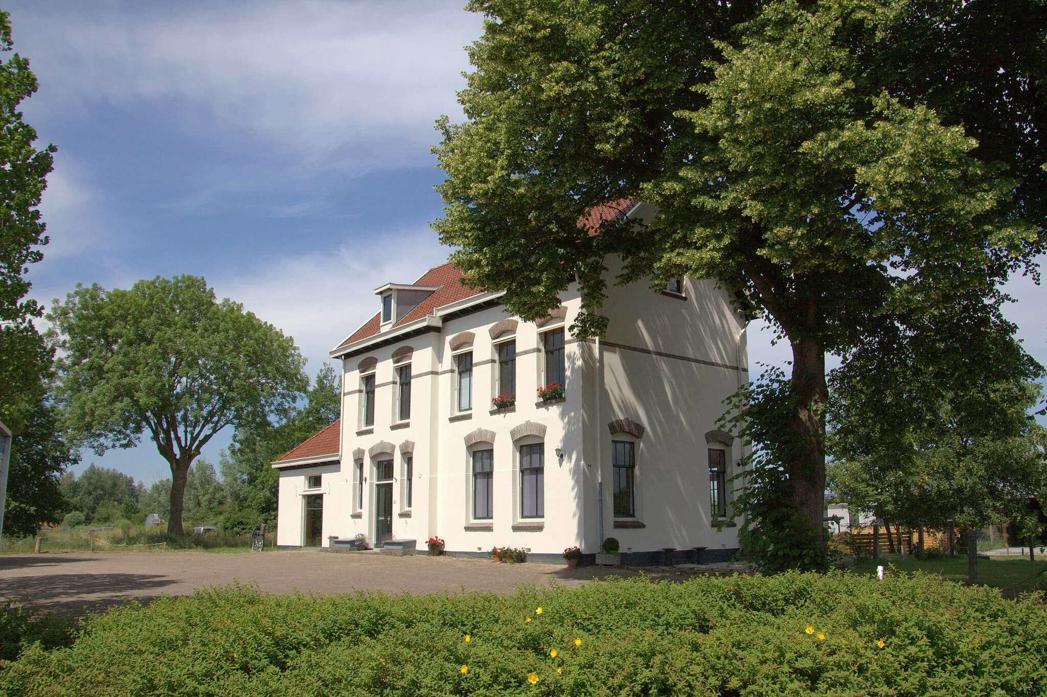
[[[864,560],[854,565],[856,574],[875,574],[876,565],[894,567],[898,571],[925,571],[950,581],[967,580],[966,556],[941,557],[920,561],[908,556],[885,556],[878,562]],[[1007,595],[1031,590],[1047,591],[1047,560],[1038,558],[1030,562],[1028,557],[993,557],[978,560],[978,582],[1001,588]]]

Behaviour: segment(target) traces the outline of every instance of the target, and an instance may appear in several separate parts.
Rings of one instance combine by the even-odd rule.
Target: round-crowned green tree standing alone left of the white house
[[[62,350],[60,401],[96,453],[149,433],[171,466],[168,531],[182,535],[186,477],[226,426],[263,423],[307,384],[294,341],[199,276],[130,290],[77,286],[48,313]]]

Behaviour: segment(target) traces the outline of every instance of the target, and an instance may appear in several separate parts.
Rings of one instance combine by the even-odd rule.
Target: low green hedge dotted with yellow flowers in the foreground
[[[539,612],[540,608],[540,612]],[[468,636],[468,640],[466,640]],[[555,651],[555,654],[554,654]],[[510,595],[161,599],[28,647],[8,695],[1042,695],[1042,598],[928,576],[643,580]]]

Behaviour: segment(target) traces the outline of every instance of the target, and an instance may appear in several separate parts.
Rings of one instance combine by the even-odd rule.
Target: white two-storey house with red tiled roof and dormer
[[[742,450],[716,420],[748,358],[727,292],[609,284],[606,336],[579,340],[576,284],[525,322],[460,278],[446,264],[376,289],[378,312],[331,352],[341,419],[273,463],[277,545],[362,534],[424,550],[438,536],[452,554],[512,546],[554,561],[615,537],[626,563],[660,563],[666,548],[676,562],[730,558],[736,527],[718,527]],[[539,396],[557,384],[562,396]]]

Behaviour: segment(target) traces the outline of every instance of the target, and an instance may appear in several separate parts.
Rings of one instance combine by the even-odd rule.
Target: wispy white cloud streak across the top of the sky
[[[428,157],[433,119],[461,114],[463,46],[481,31],[459,0],[36,2],[13,22],[41,77],[35,103],[159,106],[194,138],[261,139],[310,171]]]

